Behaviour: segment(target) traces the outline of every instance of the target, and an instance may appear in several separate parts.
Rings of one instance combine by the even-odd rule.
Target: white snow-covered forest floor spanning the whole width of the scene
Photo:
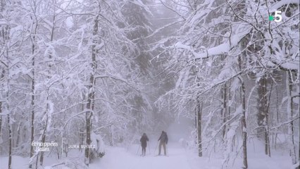
[[[180,144],[168,145],[168,156],[156,156],[158,149],[155,150],[156,143],[150,144],[150,149],[147,147],[146,156],[140,156],[141,149],[138,145],[132,145],[129,148],[121,147],[106,147],[106,155],[98,161],[90,165],[90,169],[220,169],[222,168],[221,158],[199,158],[196,152],[182,148]],[[138,153],[137,153],[137,150]],[[150,150],[150,151],[149,151]],[[82,154],[78,155],[73,152],[69,154],[67,161],[69,164],[75,164],[70,168],[82,168],[82,163],[79,159]],[[0,169],[7,168],[7,157],[0,158]],[[28,158],[20,156],[13,156],[13,169],[25,169],[27,167]],[[46,158],[45,166],[61,163],[56,161],[54,156]],[[282,154],[273,151],[273,156],[270,158],[263,155],[263,152],[254,151],[249,145],[249,169],[289,169],[290,158],[287,154]],[[69,165],[70,166],[70,165]],[[45,167],[47,168],[47,167]],[[242,168],[242,158],[237,157],[235,165],[231,166],[232,169]],[[48,168],[47,168],[48,169]],[[52,169],[69,169],[58,165]]]

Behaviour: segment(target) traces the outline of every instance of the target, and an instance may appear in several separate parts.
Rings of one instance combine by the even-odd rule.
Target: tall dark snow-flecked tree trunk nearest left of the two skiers
[[[99,24],[99,15],[96,16],[94,20],[94,29],[93,29],[93,37],[98,34],[98,24]],[[92,143],[91,140],[91,132],[92,132],[92,115],[94,111],[94,95],[95,95],[95,78],[94,75],[96,73],[96,39],[93,39],[92,45],[92,73],[89,77],[89,86],[88,86],[88,96],[87,96],[87,113],[85,114],[86,121],[86,130],[87,130],[87,139],[86,144],[89,146]],[[85,148],[85,164],[89,166],[90,163],[90,151],[89,148]]]

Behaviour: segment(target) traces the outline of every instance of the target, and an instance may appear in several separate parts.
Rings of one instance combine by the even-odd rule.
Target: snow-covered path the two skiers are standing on
[[[148,148],[146,151],[148,151],[146,156],[140,156],[141,150],[139,150],[137,155],[134,149],[126,151],[121,148],[112,148],[106,151],[106,156],[99,163],[94,163],[93,167],[97,165],[101,166],[102,169],[192,169],[183,148],[169,146],[168,156],[156,156],[158,153],[157,149],[156,155],[154,155],[154,149],[150,149],[151,154]]]

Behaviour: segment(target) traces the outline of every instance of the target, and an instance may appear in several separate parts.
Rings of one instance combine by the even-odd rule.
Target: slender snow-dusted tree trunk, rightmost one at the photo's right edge
[[[292,75],[290,72],[287,72],[287,119],[290,121],[288,124],[288,132],[289,135],[289,153],[292,157],[292,164],[296,164],[296,151],[294,144],[294,126],[293,126],[293,101],[292,101]]]

